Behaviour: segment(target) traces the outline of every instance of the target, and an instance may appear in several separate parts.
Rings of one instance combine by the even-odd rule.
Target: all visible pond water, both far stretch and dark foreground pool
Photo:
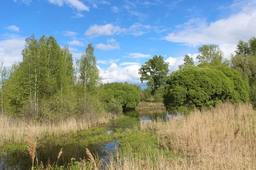
[[[139,118],[140,121],[150,122],[158,119],[167,119],[170,115],[165,110],[160,109],[140,109],[127,111],[124,115]],[[106,135],[115,133],[115,130],[106,129]],[[97,154],[104,161],[109,160],[109,152],[113,154],[115,146],[118,145],[118,140],[110,141],[108,143],[92,144],[86,146],[92,154]],[[57,161],[57,155],[60,152],[61,147],[56,146],[54,142],[44,143],[42,147],[36,149],[36,156],[38,158],[38,163],[42,161],[43,164],[50,161],[53,165]],[[85,147],[81,148],[75,145],[68,145],[63,147],[63,154],[58,160],[58,165],[67,165],[70,163],[72,157],[80,161],[79,158],[84,159]],[[85,157],[87,159],[87,157]],[[28,152],[25,153],[15,153],[12,155],[7,155],[0,158],[0,169],[1,170],[28,170],[30,169],[32,163]],[[36,161],[34,162],[35,165]],[[56,164],[56,163],[55,163]]]

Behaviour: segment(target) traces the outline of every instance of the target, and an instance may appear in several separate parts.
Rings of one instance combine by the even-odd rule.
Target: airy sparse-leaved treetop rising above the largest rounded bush
[[[219,58],[222,60],[223,58],[223,52],[220,50],[220,47],[214,44],[204,44],[198,48],[198,52],[201,52],[201,54],[196,57],[196,59],[199,60],[199,63],[211,63],[213,59]]]

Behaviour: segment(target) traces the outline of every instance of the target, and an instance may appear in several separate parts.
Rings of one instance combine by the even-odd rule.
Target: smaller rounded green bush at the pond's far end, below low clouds
[[[104,102],[110,102],[115,98],[124,109],[135,108],[140,101],[138,90],[130,84],[107,83],[100,95]]]

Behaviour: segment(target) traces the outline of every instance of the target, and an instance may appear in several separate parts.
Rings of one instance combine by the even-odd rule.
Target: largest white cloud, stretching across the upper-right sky
[[[240,12],[236,14],[210,23],[202,18],[190,19],[164,39],[188,46],[218,44],[225,57],[229,58],[240,39],[247,41],[256,34],[256,1],[243,2]]]

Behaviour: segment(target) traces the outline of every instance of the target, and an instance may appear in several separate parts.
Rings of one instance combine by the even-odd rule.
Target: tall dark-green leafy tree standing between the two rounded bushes
[[[141,75],[141,83],[148,81],[147,85],[152,89],[154,94],[157,88],[166,84],[167,74],[169,72],[169,63],[163,60],[163,57],[155,55],[153,58],[145,62],[139,69]]]

